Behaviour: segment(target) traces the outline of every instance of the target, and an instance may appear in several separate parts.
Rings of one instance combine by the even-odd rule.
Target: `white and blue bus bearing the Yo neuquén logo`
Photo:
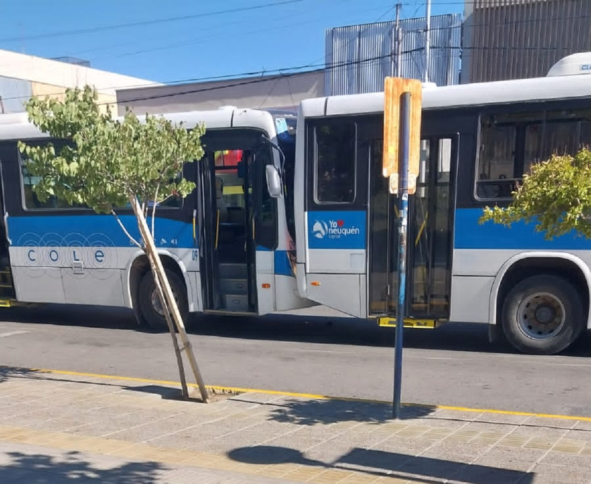
[[[480,322],[491,338],[545,354],[591,328],[591,241],[478,223],[484,206],[509,204],[533,163],[591,144],[589,57],[566,57],[545,78],[424,87],[408,325]],[[383,130],[383,93],[303,101],[294,205],[301,298],[387,325],[398,201],[382,176]]]

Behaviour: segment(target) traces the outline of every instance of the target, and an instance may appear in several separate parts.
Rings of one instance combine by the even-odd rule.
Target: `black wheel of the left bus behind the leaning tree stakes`
[[[168,282],[176,296],[178,309],[187,321],[189,315],[189,301],[187,282],[183,271],[173,257],[160,254]],[[167,331],[168,325],[161,314],[160,301],[155,297],[154,278],[150,270],[150,263],[144,254],[138,256],[129,269],[129,292],[136,318],[141,324],[147,324],[155,331]]]

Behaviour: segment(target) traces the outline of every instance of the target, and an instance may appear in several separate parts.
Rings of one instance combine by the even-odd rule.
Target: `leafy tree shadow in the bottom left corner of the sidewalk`
[[[155,462],[131,462],[107,468],[86,462],[77,452],[60,457],[21,452],[4,455],[9,462],[0,466],[0,482],[6,483],[155,484],[159,482],[160,472],[168,470]]]

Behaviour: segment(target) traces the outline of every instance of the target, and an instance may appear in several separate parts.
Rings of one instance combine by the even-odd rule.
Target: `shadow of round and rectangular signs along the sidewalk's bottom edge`
[[[230,459],[249,464],[300,464],[362,472],[373,476],[398,477],[423,483],[440,483],[453,479],[466,484],[530,484],[534,473],[499,467],[465,464],[432,457],[415,457],[407,454],[353,448],[334,462],[325,463],[308,459],[298,450],[288,447],[254,446],[235,448],[228,453]]]

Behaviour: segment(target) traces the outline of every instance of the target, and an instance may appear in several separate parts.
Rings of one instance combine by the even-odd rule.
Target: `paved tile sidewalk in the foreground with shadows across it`
[[[0,367],[0,483],[591,483],[591,418],[245,392]]]

